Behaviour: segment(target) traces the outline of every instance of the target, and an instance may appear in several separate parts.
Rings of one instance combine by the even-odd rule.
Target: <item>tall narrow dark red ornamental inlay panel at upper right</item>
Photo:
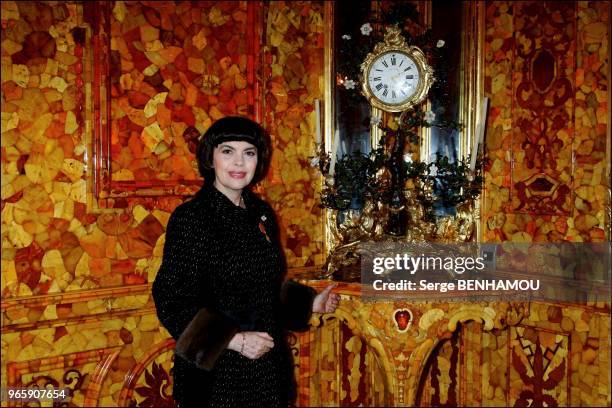
[[[512,212],[573,210],[571,120],[575,111],[576,7],[514,6]]]

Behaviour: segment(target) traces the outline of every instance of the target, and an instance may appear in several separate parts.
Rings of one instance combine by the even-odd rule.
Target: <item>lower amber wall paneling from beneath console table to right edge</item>
[[[605,309],[532,303],[520,324],[486,331],[471,322],[462,325],[460,339],[432,354],[419,405],[609,404]]]

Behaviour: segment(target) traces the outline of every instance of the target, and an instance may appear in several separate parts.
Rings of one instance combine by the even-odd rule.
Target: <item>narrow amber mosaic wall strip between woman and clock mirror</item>
[[[270,2],[265,16],[265,123],[274,153],[264,192],[279,217],[288,264],[321,265],[321,181],[309,156],[314,99],[323,95],[323,2]]]

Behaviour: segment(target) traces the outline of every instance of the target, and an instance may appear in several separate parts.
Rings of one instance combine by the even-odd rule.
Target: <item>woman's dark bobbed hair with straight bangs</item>
[[[196,149],[198,169],[207,184],[215,181],[213,151],[223,142],[248,142],[257,148],[257,167],[251,185],[261,181],[270,165],[270,137],[266,131],[249,118],[226,116],[217,120],[200,137]]]

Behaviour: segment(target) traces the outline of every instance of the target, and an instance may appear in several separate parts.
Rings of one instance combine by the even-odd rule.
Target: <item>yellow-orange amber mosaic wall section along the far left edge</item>
[[[2,296],[88,286],[79,8],[2,11]]]

